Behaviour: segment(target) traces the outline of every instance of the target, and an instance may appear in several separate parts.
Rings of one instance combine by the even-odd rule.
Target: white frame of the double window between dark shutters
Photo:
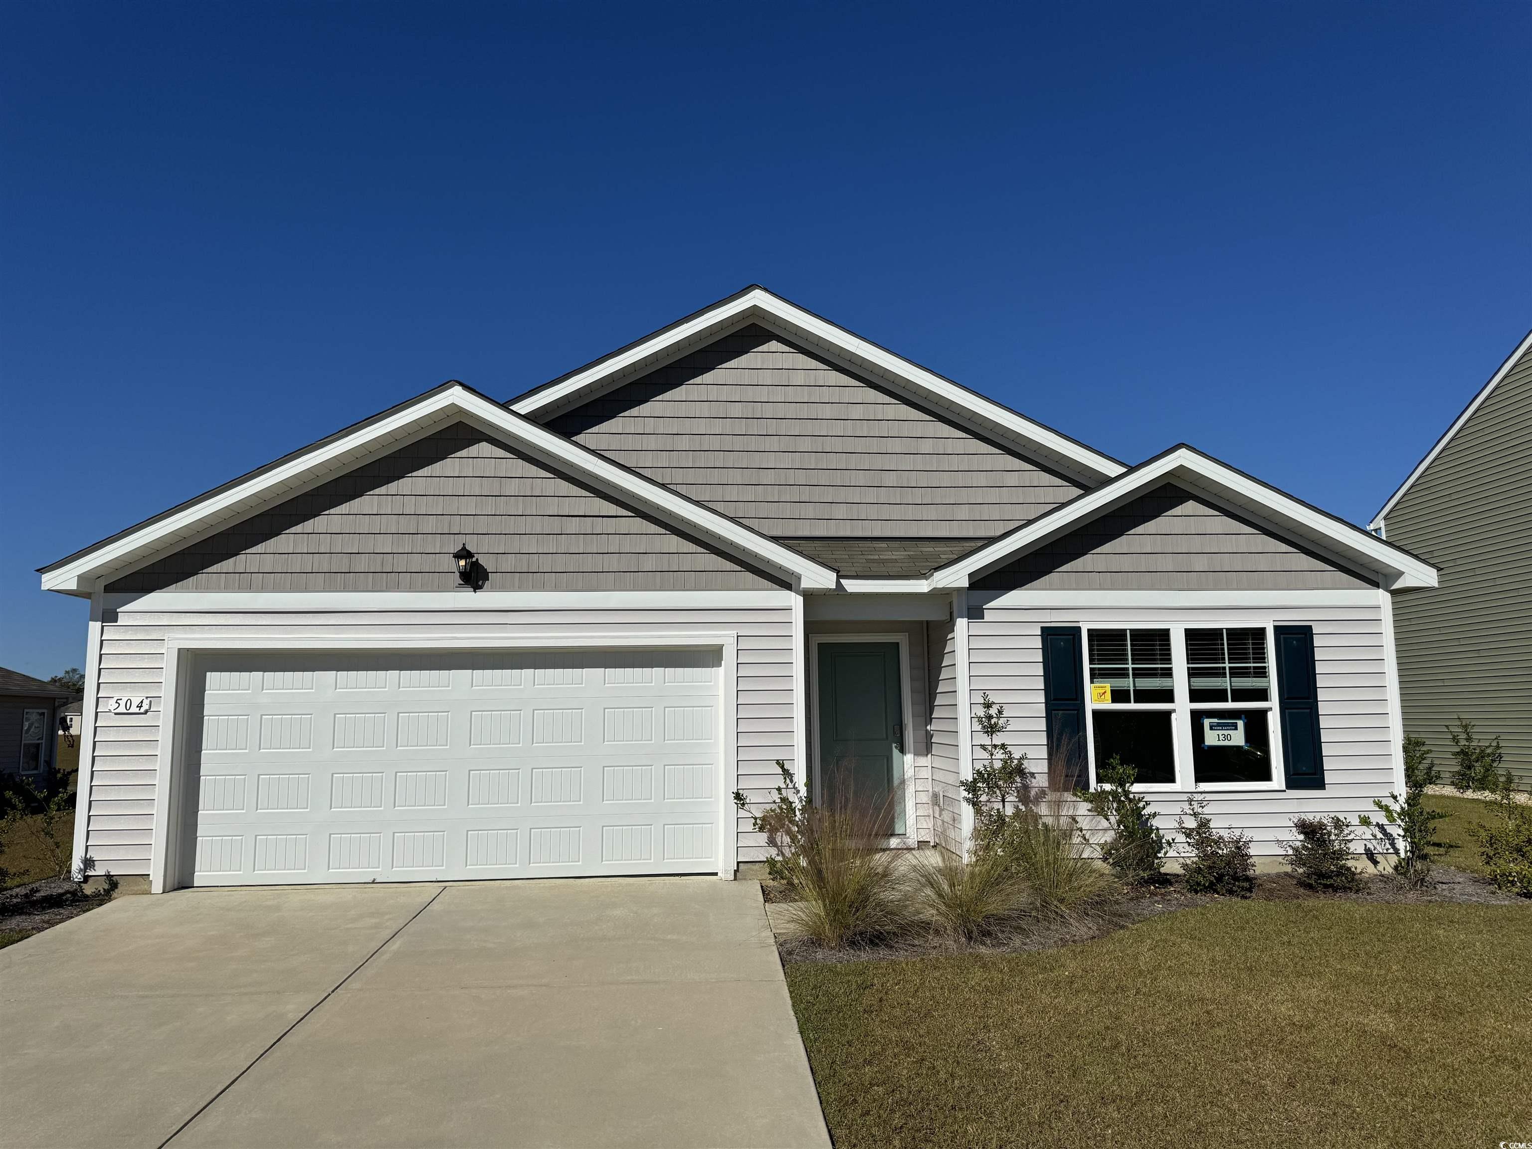
[[[1135,791],[1144,794],[1190,794],[1206,791],[1209,794],[1236,794],[1287,789],[1287,768],[1282,761],[1281,726],[1276,722],[1276,637],[1273,622],[1253,622],[1250,619],[1196,619],[1195,622],[1147,622],[1147,620],[1111,620],[1088,622],[1080,625],[1085,662],[1085,726],[1086,754],[1091,763],[1091,786],[1097,784],[1095,763],[1095,712],[1097,711],[1158,711],[1169,712],[1170,717],[1170,755],[1175,763],[1174,783],[1135,783]],[[1091,631],[1097,630],[1166,630],[1170,631],[1170,674],[1175,686],[1175,702],[1109,702],[1095,703],[1091,700]],[[1261,630],[1265,633],[1265,666],[1267,688],[1265,702],[1192,702],[1190,674],[1186,662],[1186,631],[1189,630]],[[1270,781],[1196,781],[1192,761],[1192,740],[1196,732],[1192,729],[1192,711],[1265,711],[1267,743],[1272,748],[1272,780]]]

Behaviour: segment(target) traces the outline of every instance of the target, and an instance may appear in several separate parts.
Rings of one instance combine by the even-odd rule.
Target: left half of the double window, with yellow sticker
[[[1175,666],[1169,630],[1091,630],[1091,748],[1141,786],[1175,786]],[[1105,689],[1103,689],[1105,688]]]

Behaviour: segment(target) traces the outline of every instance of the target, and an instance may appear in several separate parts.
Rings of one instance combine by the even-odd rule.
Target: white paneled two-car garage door
[[[207,654],[196,885],[719,869],[717,650]]]

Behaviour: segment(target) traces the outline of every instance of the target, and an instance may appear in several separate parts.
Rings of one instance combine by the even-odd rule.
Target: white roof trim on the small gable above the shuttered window
[[[967,587],[973,579],[988,574],[1017,555],[1068,535],[1082,522],[1115,510],[1161,483],[1177,483],[1229,510],[1256,518],[1325,558],[1374,571],[1388,590],[1437,585],[1437,571],[1429,562],[1273,490],[1201,452],[1175,447],[1033,519],[1025,527],[1002,535],[990,545],[941,567],[931,573],[930,587],[931,590]]]

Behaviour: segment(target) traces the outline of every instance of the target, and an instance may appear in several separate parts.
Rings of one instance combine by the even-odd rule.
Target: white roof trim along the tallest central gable
[[[1069,475],[1098,483],[1126,470],[1117,460],[961,388],[760,286],[741,291],[558,383],[513,400],[510,408],[519,415],[547,418],[574,406],[576,400],[594,397],[628,378],[647,374],[669,358],[688,354],[752,322],[823,351],[844,366],[889,381],[913,398],[942,409],[956,421],[1011,441]]]

